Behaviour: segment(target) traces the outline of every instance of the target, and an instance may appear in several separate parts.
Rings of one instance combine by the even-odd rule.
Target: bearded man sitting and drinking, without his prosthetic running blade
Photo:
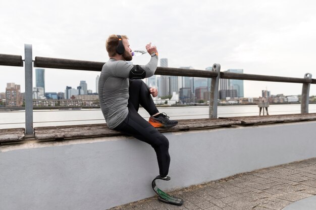
[[[146,45],[151,55],[146,65],[132,65],[132,50],[125,35],[110,35],[106,42],[109,61],[102,67],[99,78],[99,100],[102,113],[109,128],[143,141],[154,149],[162,179],[169,172],[169,141],[155,127],[172,127],[178,122],[160,113],[150,94],[157,96],[155,88],[149,88],[141,80],[151,77],[158,63],[158,51],[151,43]],[[138,114],[141,105],[149,114],[149,122]]]

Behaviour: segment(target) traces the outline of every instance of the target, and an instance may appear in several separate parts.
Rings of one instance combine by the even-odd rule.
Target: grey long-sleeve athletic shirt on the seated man
[[[151,77],[156,71],[158,56],[152,56],[146,65],[141,65],[146,72],[146,78]],[[132,64],[123,60],[111,58],[106,62],[99,78],[99,100],[104,118],[113,129],[118,126],[128,114],[129,99],[129,74]]]

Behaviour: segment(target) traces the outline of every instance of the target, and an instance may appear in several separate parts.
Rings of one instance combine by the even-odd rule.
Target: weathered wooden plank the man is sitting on
[[[193,119],[193,120],[179,120],[179,124],[166,129],[158,128],[161,132],[170,132],[187,129],[201,129],[215,126],[230,126],[241,124],[239,121],[227,119]],[[95,125],[73,125],[73,126],[51,126],[51,127],[35,127],[35,138],[38,140],[44,139],[58,139],[58,138],[82,138],[82,137],[96,137],[96,136],[117,136],[124,135],[113,129],[109,129],[106,124]]]

